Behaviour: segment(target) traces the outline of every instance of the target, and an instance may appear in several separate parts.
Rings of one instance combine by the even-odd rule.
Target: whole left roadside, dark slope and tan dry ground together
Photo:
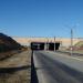
[[[0,83],[30,83],[31,51],[0,33]]]

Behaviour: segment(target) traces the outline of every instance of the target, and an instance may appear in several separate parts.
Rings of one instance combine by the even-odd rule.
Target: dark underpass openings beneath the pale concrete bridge
[[[60,46],[60,42],[31,42],[31,50],[50,50],[50,51],[54,51],[54,45],[55,45],[55,50],[59,50]]]

